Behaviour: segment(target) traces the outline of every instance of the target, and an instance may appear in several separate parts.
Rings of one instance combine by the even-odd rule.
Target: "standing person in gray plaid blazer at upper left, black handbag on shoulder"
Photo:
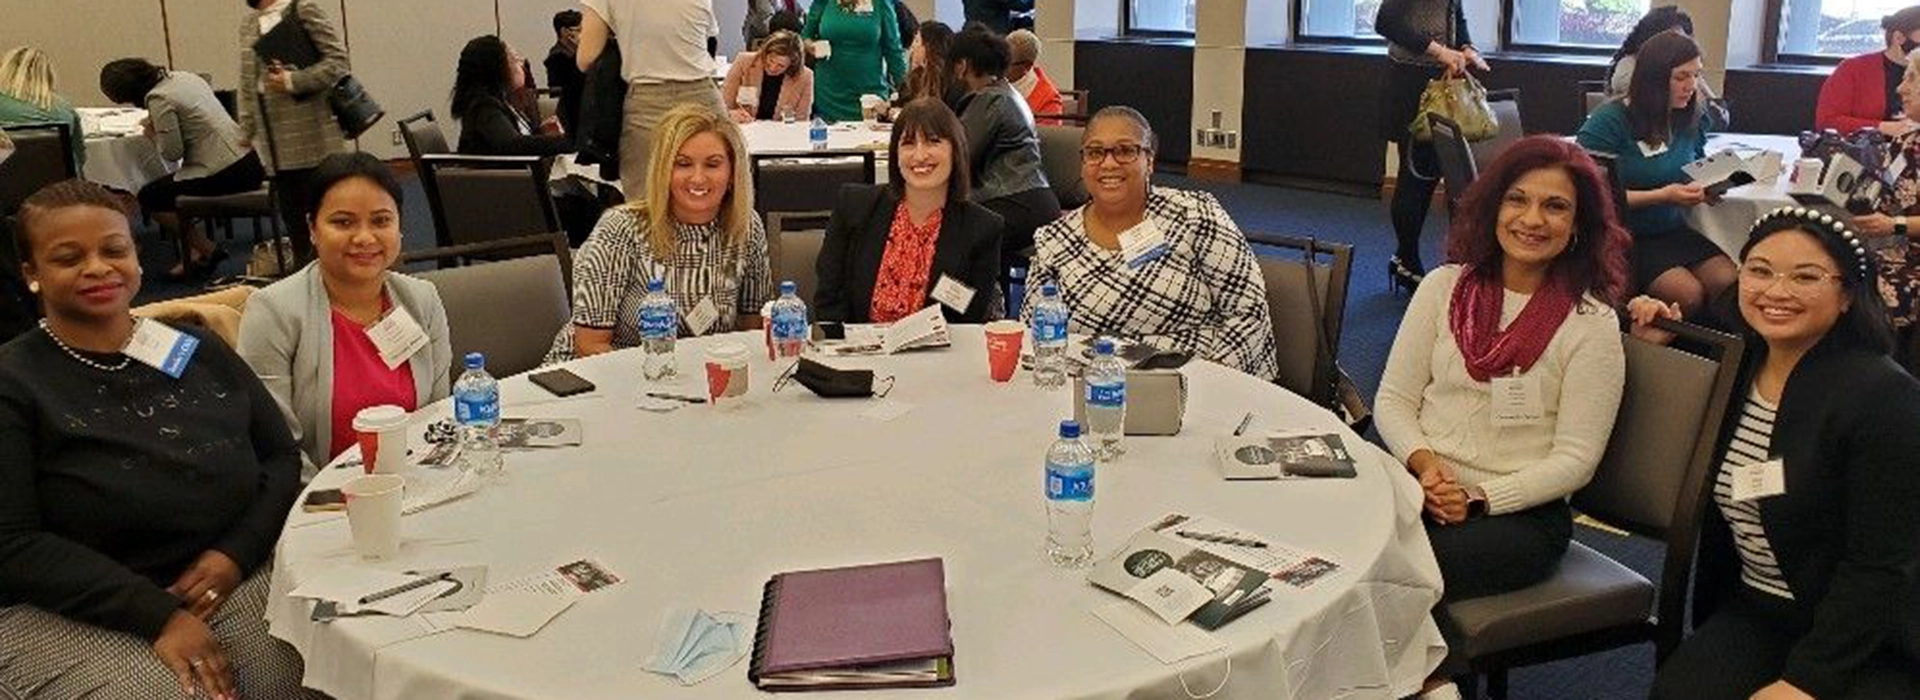
[[[332,153],[346,153],[346,136],[323,92],[348,75],[348,44],[319,2],[248,0],[253,12],[240,19],[240,134],[259,153],[280,205],[294,263],[313,259],[307,236],[307,186],[313,167]],[[269,63],[253,44],[282,21],[298,21],[313,38],[321,59],[313,65]]]

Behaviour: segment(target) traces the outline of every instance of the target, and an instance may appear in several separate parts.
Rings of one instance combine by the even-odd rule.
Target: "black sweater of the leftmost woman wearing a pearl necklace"
[[[242,575],[273,554],[300,445],[232,349],[182,330],[179,380],[84,366],[38,328],[0,345],[0,604],[154,639],[202,552]]]

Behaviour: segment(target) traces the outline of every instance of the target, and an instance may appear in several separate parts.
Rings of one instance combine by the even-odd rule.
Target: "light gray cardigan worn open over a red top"
[[[407,309],[428,343],[415,353],[413,391],[420,405],[445,399],[453,376],[453,345],[447,341],[447,309],[432,282],[399,272],[386,274],[386,295]],[[303,453],[303,478],[326,464],[334,433],[334,322],[319,263],[253,293],[240,316],[240,357],[259,374],[273,401],[286,414]]]

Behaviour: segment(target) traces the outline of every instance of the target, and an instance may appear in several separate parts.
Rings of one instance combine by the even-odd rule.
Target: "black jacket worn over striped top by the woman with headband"
[[[1749,372],[1759,364],[1749,361]],[[1736,401],[1747,391],[1751,374]],[[1722,451],[1736,424],[1728,420]],[[1920,633],[1912,629],[1920,619],[1920,382],[1884,355],[1822,343],[1788,378],[1772,455],[1786,462],[1788,493],[1759,501],[1761,522],[1793,593],[1784,602],[1791,619],[1782,623],[1803,631],[1782,677],[1816,698],[1837,698],[1870,656]],[[1695,577],[1701,614],[1741,585],[1726,520],[1720,508],[1709,510]]]

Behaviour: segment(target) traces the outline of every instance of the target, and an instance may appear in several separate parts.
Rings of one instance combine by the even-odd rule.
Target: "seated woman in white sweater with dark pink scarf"
[[[1427,493],[1446,600],[1534,585],[1572,537],[1567,497],[1613,433],[1626,380],[1613,311],[1626,242],[1594,161],[1517,142],[1469,188],[1380,378],[1380,437]],[[1448,646],[1457,627],[1434,610]],[[1459,698],[1457,652],[1425,698]]]

